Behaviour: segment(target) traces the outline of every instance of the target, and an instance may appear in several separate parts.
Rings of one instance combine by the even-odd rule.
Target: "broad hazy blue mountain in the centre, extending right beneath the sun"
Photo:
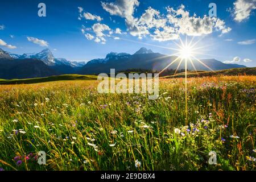
[[[160,53],[155,53],[150,49],[142,47],[133,55],[128,53],[115,53],[110,52],[104,59],[94,59],[84,65],[79,71],[80,74],[97,74],[97,73],[109,73],[110,69],[115,71],[125,71],[127,69],[147,69],[160,71],[166,68],[171,61],[177,59],[176,56],[167,56]],[[229,68],[242,68],[243,65],[238,64],[224,64],[221,61],[215,59],[204,59],[201,60],[203,63],[208,65],[213,70],[229,69]],[[175,70],[180,61],[172,64],[168,69]],[[209,71],[207,67],[193,61],[193,64],[198,70]],[[180,69],[185,69],[184,62],[179,65]],[[189,62],[187,69],[193,70],[193,65]]]

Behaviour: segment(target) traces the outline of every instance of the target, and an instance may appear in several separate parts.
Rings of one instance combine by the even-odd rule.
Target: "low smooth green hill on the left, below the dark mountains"
[[[0,85],[36,84],[36,83],[40,83],[40,82],[61,81],[61,80],[97,80],[97,76],[94,76],[94,75],[59,75],[59,76],[49,76],[49,77],[42,77],[42,78],[27,78],[27,79],[12,79],[12,80],[0,79]]]

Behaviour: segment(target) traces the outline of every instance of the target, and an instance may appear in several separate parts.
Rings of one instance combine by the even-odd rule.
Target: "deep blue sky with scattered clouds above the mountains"
[[[38,16],[40,2],[46,17]],[[209,17],[211,2],[217,17]],[[187,35],[200,40],[200,59],[256,67],[255,8],[254,0],[2,1],[0,48],[18,54],[49,48],[55,57],[88,61],[141,47],[172,55],[177,51],[168,48]]]

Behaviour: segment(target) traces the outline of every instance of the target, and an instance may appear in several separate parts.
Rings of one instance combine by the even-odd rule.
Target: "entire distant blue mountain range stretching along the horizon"
[[[17,55],[8,53],[0,48],[0,78],[33,78],[63,74],[97,74],[109,73],[111,68],[115,71],[125,71],[127,69],[147,69],[160,71],[165,68],[176,56],[162,55],[150,49],[142,47],[133,55],[129,53],[110,52],[104,59],[93,59],[88,63],[79,61],[69,61],[64,58],[55,58],[49,49],[44,49],[39,53],[24,53]],[[168,69],[176,69],[180,60],[177,60]],[[197,60],[192,61],[197,70],[209,71],[207,67]],[[201,60],[214,71],[230,68],[243,68],[244,65],[225,64],[215,59]],[[184,61],[179,69],[184,69]],[[193,70],[190,61],[187,68]]]

